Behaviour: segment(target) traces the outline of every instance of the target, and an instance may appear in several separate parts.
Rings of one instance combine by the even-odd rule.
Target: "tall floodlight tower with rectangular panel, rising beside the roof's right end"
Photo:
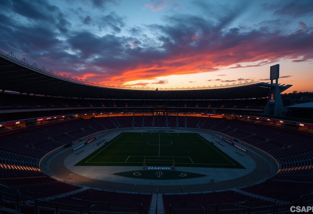
[[[280,116],[281,114],[283,104],[278,85],[278,78],[279,78],[279,64],[270,66],[269,79],[271,86],[269,88],[267,103],[264,110],[265,115]],[[275,80],[275,83],[273,82],[273,80]]]

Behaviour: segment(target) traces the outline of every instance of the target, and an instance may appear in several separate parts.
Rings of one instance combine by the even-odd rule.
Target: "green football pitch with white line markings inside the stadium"
[[[244,168],[197,133],[122,132],[76,165]]]

